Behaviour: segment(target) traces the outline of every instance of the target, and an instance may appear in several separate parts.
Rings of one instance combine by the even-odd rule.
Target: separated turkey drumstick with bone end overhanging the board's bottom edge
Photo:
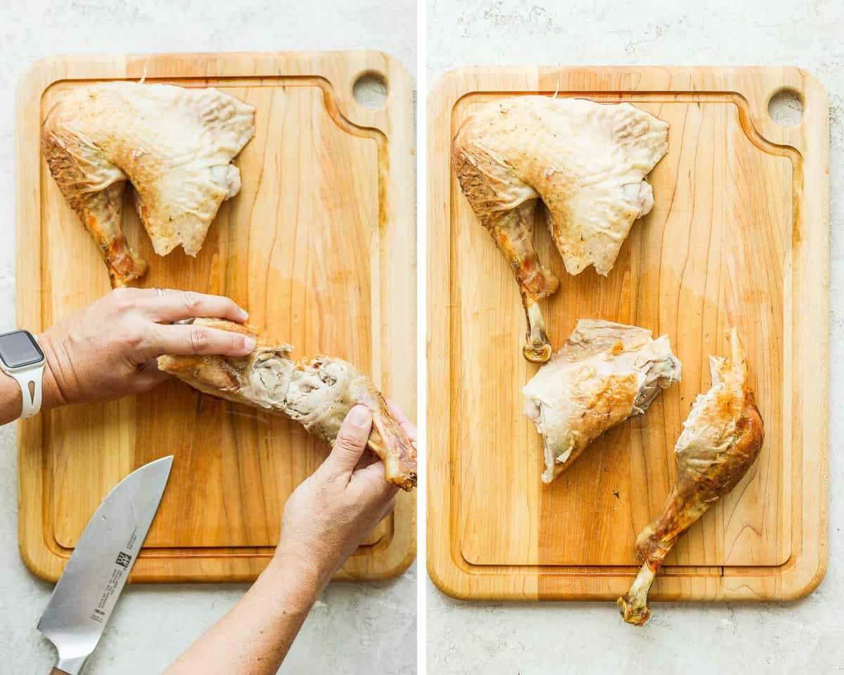
[[[736,486],[759,456],[765,431],[748,388],[744,350],[734,328],[728,338],[730,355],[710,357],[712,387],[697,397],[674,446],[674,487],[657,519],[636,540],[641,570],[617,602],[628,624],[641,626],[650,616],[647,593],[674,543]]]

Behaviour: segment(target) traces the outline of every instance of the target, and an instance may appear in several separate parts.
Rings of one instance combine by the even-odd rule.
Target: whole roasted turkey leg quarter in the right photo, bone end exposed
[[[633,221],[650,212],[644,181],[668,151],[668,124],[630,105],[520,96],[481,105],[452,140],[463,194],[510,263],[527,316],[522,353],[551,355],[538,301],[559,280],[533,249],[538,199],[565,270],[612,269]]]

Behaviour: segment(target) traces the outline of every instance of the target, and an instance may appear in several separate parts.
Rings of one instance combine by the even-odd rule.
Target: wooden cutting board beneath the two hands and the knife
[[[374,73],[386,104],[359,105]],[[219,210],[196,259],[167,257],[127,202],[127,238],[149,261],[144,286],[226,294],[295,355],[332,354],[413,411],[415,226],[413,92],[379,52],[58,57],[18,92],[19,325],[38,332],[106,294],[95,243],[41,158],[41,121],[62,92],[102,80],[214,86],[255,106],[235,159],[241,192]],[[127,191],[128,192],[128,191]],[[134,581],[254,579],[284,501],[327,446],[297,424],[171,381],[141,397],[63,408],[19,425],[19,544],[55,580],[100,500],[127,473],[175,455]],[[401,494],[338,579],[400,574],[415,555],[415,495]]]

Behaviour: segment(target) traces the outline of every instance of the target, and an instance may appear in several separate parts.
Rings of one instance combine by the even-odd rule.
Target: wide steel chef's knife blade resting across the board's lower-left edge
[[[38,622],[58,650],[53,675],[78,675],[100,641],[158,510],[172,464],[170,455],[130,473],[85,526]]]

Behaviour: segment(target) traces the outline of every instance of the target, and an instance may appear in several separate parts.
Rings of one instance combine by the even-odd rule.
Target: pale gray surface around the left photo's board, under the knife
[[[0,0],[0,327],[14,327],[14,88],[25,67],[62,53],[380,49],[415,71],[412,0]],[[51,586],[17,545],[14,425],[0,427],[0,672],[49,672],[35,630]],[[335,584],[311,612],[281,672],[414,672],[415,566],[394,582]],[[87,672],[161,672],[246,586],[127,586]]]

